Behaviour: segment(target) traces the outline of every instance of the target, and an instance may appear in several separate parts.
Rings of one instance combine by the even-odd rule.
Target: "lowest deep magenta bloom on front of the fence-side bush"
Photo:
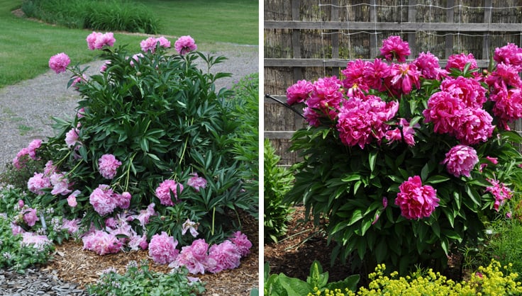
[[[429,185],[422,186],[421,177],[409,177],[399,186],[395,205],[401,208],[401,215],[406,219],[430,217],[438,207],[437,190]]]

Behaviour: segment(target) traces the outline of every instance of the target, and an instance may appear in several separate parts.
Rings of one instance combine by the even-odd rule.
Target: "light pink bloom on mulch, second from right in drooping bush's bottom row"
[[[207,270],[211,273],[218,273],[226,269],[237,268],[240,264],[241,255],[238,248],[229,241],[223,241],[221,244],[214,244],[209,249],[209,257],[207,258]]]

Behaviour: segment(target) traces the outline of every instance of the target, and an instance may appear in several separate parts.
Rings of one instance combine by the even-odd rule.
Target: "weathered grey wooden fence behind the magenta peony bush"
[[[409,42],[409,59],[429,51],[441,65],[465,52],[487,67],[496,47],[522,47],[522,0],[265,0],[264,11],[265,93],[282,100],[298,80],[340,77],[349,59],[373,59],[391,35]],[[289,138],[304,120],[270,98],[264,109],[265,137],[293,164]]]

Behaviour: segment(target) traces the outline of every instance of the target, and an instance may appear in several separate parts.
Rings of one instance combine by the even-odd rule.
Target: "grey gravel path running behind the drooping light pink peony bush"
[[[213,55],[228,59],[215,64],[211,72],[233,74],[216,81],[216,89],[230,87],[233,81],[259,71],[257,47],[237,46],[234,52],[215,52]],[[102,61],[89,63],[87,73],[98,71],[101,64]],[[45,140],[54,135],[52,116],[69,119],[75,114],[78,95],[67,89],[69,79],[70,72],[55,74],[49,70],[35,79],[0,89],[0,171],[4,171],[5,164],[31,140]]]

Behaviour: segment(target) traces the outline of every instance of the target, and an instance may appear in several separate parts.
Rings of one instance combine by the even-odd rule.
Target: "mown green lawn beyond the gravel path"
[[[160,35],[191,35],[202,51],[230,50],[236,44],[257,45],[257,1],[135,0],[154,11],[162,22]],[[89,62],[90,30],[73,30],[14,16],[22,0],[0,0],[0,88],[48,71],[49,57],[66,52],[72,64]],[[116,45],[139,51],[145,36],[115,33]],[[174,42],[175,40],[172,40]]]

